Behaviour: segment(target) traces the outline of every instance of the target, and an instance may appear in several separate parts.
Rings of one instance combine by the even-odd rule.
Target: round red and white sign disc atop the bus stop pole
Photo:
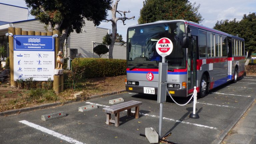
[[[163,58],[168,56],[173,49],[172,41],[168,38],[161,38],[156,43],[156,51]]]

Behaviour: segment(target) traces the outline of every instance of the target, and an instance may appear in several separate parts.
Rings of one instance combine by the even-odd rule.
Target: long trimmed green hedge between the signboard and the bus
[[[81,78],[111,77],[126,74],[126,60],[103,58],[75,58],[72,71]]]

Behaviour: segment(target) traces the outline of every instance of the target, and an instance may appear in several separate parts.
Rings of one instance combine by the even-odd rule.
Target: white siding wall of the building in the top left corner
[[[0,3],[0,21],[15,22],[28,19],[28,8]]]

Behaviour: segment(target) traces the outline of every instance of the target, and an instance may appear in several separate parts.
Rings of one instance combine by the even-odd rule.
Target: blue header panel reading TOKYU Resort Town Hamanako
[[[14,36],[14,51],[54,51],[52,36]]]

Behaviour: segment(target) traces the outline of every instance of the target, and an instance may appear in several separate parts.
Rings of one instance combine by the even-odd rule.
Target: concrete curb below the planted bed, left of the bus
[[[85,97],[83,100],[100,98],[100,97],[109,96],[109,95],[113,95],[113,94],[119,94],[119,93],[122,93],[122,92],[126,92],[126,90],[115,91],[115,92],[105,93],[105,94],[101,94],[101,95],[94,95],[94,96],[91,96],[91,97],[88,97],[88,98]],[[78,102],[78,101],[81,101],[81,99],[70,100],[70,101],[67,101],[65,103],[57,102],[57,103],[43,104],[43,105],[34,106],[34,107],[28,107],[28,108],[8,110],[8,111],[0,112],[0,116],[19,114],[21,112],[27,112],[27,111],[32,111],[32,110],[44,109],[44,108],[49,108],[49,107],[53,107],[53,106],[58,106],[58,105],[61,105],[61,104],[69,104],[69,103]]]

